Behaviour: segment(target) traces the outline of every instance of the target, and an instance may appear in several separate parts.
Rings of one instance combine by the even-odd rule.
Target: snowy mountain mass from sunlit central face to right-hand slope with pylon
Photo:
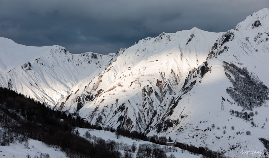
[[[268,14],[264,8],[224,33],[193,28],[140,40],[56,107],[102,127],[171,136],[231,157],[247,156],[240,151],[251,145],[263,150],[258,138],[268,139],[269,129],[263,125],[268,117]],[[246,118],[251,110],[257,115]]]

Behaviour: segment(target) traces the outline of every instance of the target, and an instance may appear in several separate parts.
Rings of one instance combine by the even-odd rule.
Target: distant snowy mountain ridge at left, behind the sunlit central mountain
[[[0,54],[0,86],[49,105],[98,75],[115,55],[71,54],[61,46],[29,47],[3,37]]]

